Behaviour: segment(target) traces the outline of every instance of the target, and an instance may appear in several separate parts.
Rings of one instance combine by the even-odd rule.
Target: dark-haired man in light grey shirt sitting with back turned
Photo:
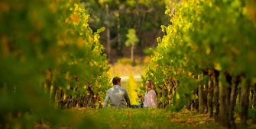
[[[111,101],[110,106],[112,108],[126,108],[130,106],[128,93],[125,88],[121,87],[121,78],[114,77],[112,83],[114,86],[107,91],[103,108],[108,105],[109,100]]]

